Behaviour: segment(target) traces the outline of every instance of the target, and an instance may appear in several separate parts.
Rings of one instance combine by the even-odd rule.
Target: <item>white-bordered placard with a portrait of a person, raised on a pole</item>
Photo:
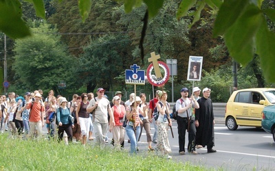
[[[189,56],[187,80],[201,81],[202,56]]]

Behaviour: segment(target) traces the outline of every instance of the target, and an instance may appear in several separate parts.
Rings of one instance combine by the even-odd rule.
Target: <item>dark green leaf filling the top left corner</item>
[[[0,1],[0,30],[10,38],[30,36],[30,29],[21,15],[21,3],[18,0]]]

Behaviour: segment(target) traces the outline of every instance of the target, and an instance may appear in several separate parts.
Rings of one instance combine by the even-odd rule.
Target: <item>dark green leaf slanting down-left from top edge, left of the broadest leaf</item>
[[[248,4],[249,0],[224,1],[214,23],[214,37],[224,34],[234,24],[236,19],[239,18]]]

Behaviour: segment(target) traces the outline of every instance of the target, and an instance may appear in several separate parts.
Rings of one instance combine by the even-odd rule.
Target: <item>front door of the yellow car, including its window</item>
[[[260,100],[265,100],[261,92],[251,92],[250,96],[250,125],[261,127],[262,115],[264,105],[259,103]]]

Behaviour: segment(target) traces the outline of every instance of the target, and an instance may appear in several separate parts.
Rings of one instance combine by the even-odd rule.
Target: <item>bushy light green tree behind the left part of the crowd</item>
[[[31,29],[32,38],[16,40],[14,66],[17,85],[25,90],[53,88],[58,92],[59,81],[72,79],[74,59],[56,36],[56,29],[41,24]]]

